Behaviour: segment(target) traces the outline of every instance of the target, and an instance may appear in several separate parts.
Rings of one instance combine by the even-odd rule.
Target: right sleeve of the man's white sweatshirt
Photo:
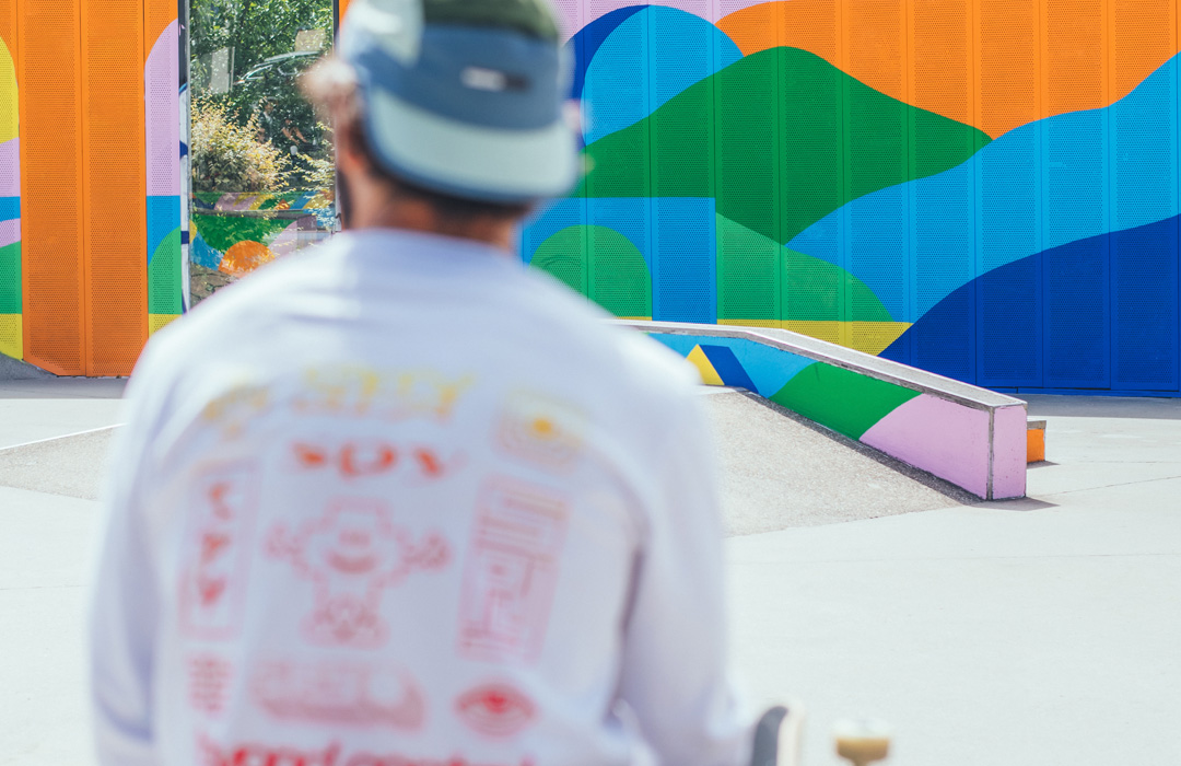
[[[690,394],[658,460],[620,696],[661,764],[744,766],[751,721],[730,673],[716,455]]]

